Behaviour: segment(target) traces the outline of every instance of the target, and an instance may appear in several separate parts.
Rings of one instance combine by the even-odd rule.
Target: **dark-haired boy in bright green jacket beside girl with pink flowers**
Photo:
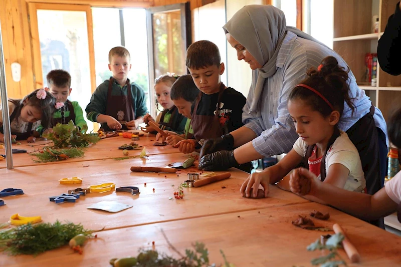
[[[57,99],[56,108],[58,110],[53,115],[50,128],[44,129],[42,125],[39,125],[36,130],[41,134],[46,134],[51,132],[57,123],[67,124],[72,120],[80,130],[86,131],[88,126],[86,125],[82,108],[78,102],[71,102],[67,99],[72,91],[71,75],[65,70],[53,70],[47,74],[46,79],[48,87],[45,87],[45,90]]]

